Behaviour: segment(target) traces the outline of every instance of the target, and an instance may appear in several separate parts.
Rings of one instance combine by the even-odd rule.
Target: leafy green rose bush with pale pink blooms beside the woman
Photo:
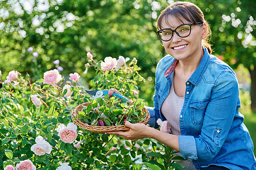
[[[107,57],[97,61],[91,53],[86,58],[87,71],[96,73],[88,83],[90,90],[115,88],[136,99],[137,83],[144,80],[138,73],[137,59]],[[72,82],[65,82],[54,69],[31,82],[34,78],[15,70],[6,78],[2,74],[0,70],[0,169],[147,169],[163,168],[166,160],[167,167],[175,167],[172,155],[164,157],[164,146],[159,142],[131,142],[73,124],[72,110],[91,101],[85,87],[77,82],[81,75],[72,73]]]

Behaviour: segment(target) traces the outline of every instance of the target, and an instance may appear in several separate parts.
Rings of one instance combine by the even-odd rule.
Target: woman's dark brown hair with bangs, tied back
[[[157,20],[158,29],[162,29],[162,20],[163,18],[166,20],[166,23],[170,25],[168,22],[168,16],[174,16],[177,20],[183,23],[182,19],[187,20],[191,23],[205,23],[207,24],[207,36],[203,40],[203,45],[208,49],[208,52],[212,54],[212,48],[209,44],[210,36],[212,35],[212,31],[210,31],[210,27],[207,21],[204,19],[204,14],[195,4],[191,2],[175,2],[172,5],[166,7],[160,14]]]

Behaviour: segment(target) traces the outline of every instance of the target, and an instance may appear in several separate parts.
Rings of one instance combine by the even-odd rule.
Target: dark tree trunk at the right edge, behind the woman
[[[251,110],[256,112],[256,67],[250,70],[251,76]]]

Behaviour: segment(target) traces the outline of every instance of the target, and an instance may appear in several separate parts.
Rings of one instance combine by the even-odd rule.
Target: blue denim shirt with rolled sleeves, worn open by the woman
[[[167,55],[156,67],[154,108],[150,124],[166,118],[161,113],[169,94],[177,60]],[[180,113],[179,148],[197,169],[220,165],[229,169],[256,169],[253,142],[243,124],[239,88],[234,71],[204,47],[204,56],[186,82]]]

